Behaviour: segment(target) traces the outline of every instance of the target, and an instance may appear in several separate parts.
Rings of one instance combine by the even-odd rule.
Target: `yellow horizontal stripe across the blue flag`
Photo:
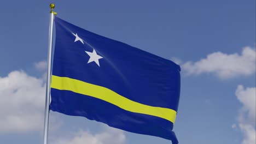
[[[53,75],[51,77],[51,88],[88,95],[90,97],[107,101],[108,103],[116,105],[126,111],[164,118],[173,124],[176,119],[177,112],[172,109],[140,104],[136,101],[127,99],[106,87],[92,85],[91,83],[71,79],[69,77]]]

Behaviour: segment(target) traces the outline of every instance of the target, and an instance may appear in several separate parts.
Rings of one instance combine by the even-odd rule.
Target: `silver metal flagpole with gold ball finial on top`
[[[48,143],[48,127],[49,127],[49,105],[50,105],[50,83],[51,83],[51,52],[53,50],[53,22],[54,15],[57,13],[53,11],[55,5],[50,4],[50,26],[49,26],[49,42],[48,42],[48,69],[46,80],[46,98],[45,98],[45,113],[44,113],[44,144]]]

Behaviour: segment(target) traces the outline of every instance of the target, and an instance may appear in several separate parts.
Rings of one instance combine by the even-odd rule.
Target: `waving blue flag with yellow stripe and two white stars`
[[[50,110],[178,143],[179,65],[55,17]]]

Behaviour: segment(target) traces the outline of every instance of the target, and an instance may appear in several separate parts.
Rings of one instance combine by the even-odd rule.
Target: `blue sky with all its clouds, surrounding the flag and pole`
[[[0,143],[43,143],[49,4],[61,19],[182,67],[180,143],[255,143],[255,1],[3,1]],[[171,143],[50,113],[53,144]]]

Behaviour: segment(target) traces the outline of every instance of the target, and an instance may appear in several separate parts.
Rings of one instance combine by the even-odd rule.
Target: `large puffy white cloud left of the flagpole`
[[[24,71],[0,77],[0,133],[43,129],[45,84]]]

